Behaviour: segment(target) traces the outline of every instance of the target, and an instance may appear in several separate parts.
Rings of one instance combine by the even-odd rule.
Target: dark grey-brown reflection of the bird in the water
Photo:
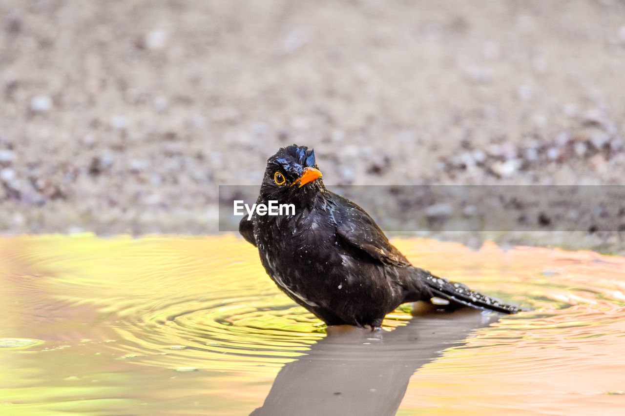
[[[496,319],[462,309],[420,315],[392,332],[329,328],[306,355],[282,367],[251,416],[394,415],[416,369]]]

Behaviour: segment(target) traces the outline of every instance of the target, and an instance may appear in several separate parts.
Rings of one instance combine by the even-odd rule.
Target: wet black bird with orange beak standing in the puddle
[[[239,232],[258,247],[278,287],[327,325],[374,329],[397,306],[417,300],[519,310],[410,264],[369,214],[327,191],[306,146],[282,147],[269,158],[257,204],[269,201],[294,204],[294,215],[255,211]]]

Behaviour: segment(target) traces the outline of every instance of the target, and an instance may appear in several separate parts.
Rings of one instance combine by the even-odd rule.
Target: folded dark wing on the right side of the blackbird
[[[329,209],[336,221],[337,234],[342,239],[384,264],[398,267],[411,265],[364,209],[334,192],[329,193],[336,205]]]

